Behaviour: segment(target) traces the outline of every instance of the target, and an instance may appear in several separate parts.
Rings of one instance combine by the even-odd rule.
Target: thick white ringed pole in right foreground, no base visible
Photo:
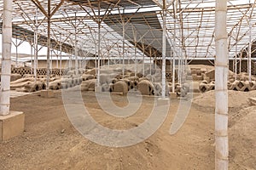
[[[215,169],[227,170],[229,167],[227,0],[217,0],[215,10]]]

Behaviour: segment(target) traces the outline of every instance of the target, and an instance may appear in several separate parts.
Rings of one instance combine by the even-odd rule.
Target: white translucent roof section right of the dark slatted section
[[[200,2],[200,1],[198,1]],[[214,1],[204,1],[214,3]],[[253,3],[247,4],[247,1],[230,1],[227,16],[227,31],[229,34],[229,51],[230,57],[239,54],[241,49],[247,48],[249,43],[249,20],[251,22],[252,41],[255,39],[255,8]],[[233,3],[245,3],[232,5]],[[184,3],[183,5],[185,5]],[[186,5],[190,5],[189,3]],[[201,5],[198,3],[198,5]],[[215,14],[214,7],[206,8],[181,8],[182,22],[178,21],[176,42],[182,42],[183,53],[189,57],[214,57],[214,25]],[[180,19],[178,19],[180,20]],[[169,14],[167,27],[169,33],[173,35],[172,14]],[[181,36],[183,35],[183,36]],[[183,37],[183,39],[180,39]]]

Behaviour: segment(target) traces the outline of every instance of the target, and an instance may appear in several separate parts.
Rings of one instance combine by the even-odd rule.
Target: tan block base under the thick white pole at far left
[[[9,115],[0,116],[0,141],[5,141],[24,132],[25,115],[21,111],[10,111]]]

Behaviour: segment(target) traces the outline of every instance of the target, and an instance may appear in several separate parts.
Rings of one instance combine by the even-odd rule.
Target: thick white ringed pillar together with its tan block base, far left
[[[25,116],[20,111],[9,111],[11,43],[12,43],[12,3],[3,0],[2,28],[2,74],[0,91],[0,141],[6,141],[24,132]]]

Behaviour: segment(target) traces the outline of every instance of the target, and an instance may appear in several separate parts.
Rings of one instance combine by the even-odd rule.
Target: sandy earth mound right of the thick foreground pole
[[[230,119],[230,169],[256,168],[256,106],[238,111]]]

